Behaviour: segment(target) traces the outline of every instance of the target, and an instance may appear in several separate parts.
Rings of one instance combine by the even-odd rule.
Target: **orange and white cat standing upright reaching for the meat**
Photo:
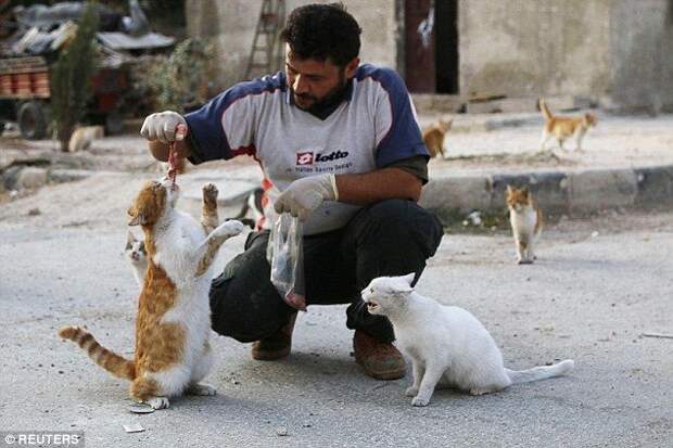
[[[178,195],[170,180],[148,182],[128,209],[129,226],[141,226],[144,232],[149,261],[138,300],[134,360],[102,347],[82,328],[59,331],[103,369],[130,380],[130,396],[154,409],[167,408],[168,397],[182,393],[215,394],[213,386],[201,383],[213,363],[209,267],[221,244],[243,230],[233,220],[215,228],[215,185],[203,187],[201,223],[175,209]]]

